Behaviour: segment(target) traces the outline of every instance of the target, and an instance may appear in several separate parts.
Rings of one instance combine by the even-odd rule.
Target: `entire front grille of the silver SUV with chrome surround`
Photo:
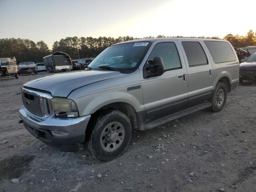
[[[52,114],[50,97],[44,93],[30,92],[30,90],[22,91],[23,104],[29,112],[40,117],[47,117]]]

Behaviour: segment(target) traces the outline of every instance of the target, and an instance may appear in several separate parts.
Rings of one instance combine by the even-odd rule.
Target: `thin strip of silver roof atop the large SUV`
[[[206,38],[185,38],[185,37],[176,37],[176,38],[150,38],[150,39],[136,39],[136,40],[130,40],[130,41],[124,41],[124,42],[120,42],[114,45],[118,45],[118,44],[124,44],[124,43],[132,43],[132,42],[145,42],[145,41],[149,41],[149,42],[154,42],[156,40],[161,40],[161,41],[168,41],[168,40],[172,40],[172,39],[183,39],[183,40],[211,40],[211,41],[225,41],[226,40],[220,40],[220,39],[206,39]]]

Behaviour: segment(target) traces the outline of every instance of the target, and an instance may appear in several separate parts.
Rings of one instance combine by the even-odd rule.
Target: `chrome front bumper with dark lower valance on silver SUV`
[[[28,132],[45,144],[60,151],[73,152],[78,151],[79,143],[84,142],[90,115],[68,119],[49,117],[42,120],[32,116],[22,106],[20,118]]]

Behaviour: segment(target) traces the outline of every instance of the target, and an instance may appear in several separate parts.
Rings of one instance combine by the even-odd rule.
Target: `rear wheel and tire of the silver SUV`
[[[224,83],[218,82],[213,93],[210,103],[212,106],[209,108],[212,112],[219,112],[224,108],[227,99],[227,88]]]

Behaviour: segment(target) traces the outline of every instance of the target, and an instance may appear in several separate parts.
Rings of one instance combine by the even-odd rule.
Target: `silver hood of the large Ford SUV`
[[[77,88],[122,75],[125,74],[116,71],[84,70],[46,76],[27,82],[24,86],[48,91],[52,96],[67,97]]]

